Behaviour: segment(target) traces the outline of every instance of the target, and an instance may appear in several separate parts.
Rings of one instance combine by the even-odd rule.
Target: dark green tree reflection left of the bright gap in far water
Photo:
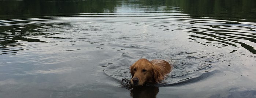
[[[116,0],[4,0],[0,1],[0,15],[62,15],[77,13],[115,12]]]

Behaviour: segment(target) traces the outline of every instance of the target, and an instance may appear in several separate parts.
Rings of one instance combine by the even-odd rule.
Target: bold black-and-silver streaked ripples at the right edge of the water
[[[203,23],[203,25],[201,25],[201,23],[194,23],[187,29],[189,33],[193,33],[188,34],[188,36],[191,37],[188,39],[200,44],[206,46],[213,45],[217,48],[242,46],[251,53],[256,54],[256,50],[253,48],[253,44],[256,43],[256,36],[254,35],[256,31],[253,30],[254,28],[256,28],[256,26],[249,24]]]

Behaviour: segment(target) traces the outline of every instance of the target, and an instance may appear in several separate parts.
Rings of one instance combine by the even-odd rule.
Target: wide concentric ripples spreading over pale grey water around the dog
[[[164,59],[174,69],[159,85],[171,86],[207,78],[218,65],[233,61],[226,58],[230,53],[256,54],[255,28],[253,23],[155,13],[1,20],[0,56],[55,64],[100,52],[107,58],[99,65],[118,81],[131,78],[129,66],[140,58]]]

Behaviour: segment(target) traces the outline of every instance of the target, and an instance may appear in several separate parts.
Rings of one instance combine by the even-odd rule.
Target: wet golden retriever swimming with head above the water
[[[130,66],[131,84],[141,86],[144,83],[159,83],[172,66],[164,60],[140,59]]]

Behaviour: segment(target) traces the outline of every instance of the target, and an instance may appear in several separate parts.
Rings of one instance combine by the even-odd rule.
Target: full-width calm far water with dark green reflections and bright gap
[[[79,13],[154,12],[184,13],[196,17],[255,22],[254,16],[256,16],[255,0],[6,0],[0,2],[2,19]]]

